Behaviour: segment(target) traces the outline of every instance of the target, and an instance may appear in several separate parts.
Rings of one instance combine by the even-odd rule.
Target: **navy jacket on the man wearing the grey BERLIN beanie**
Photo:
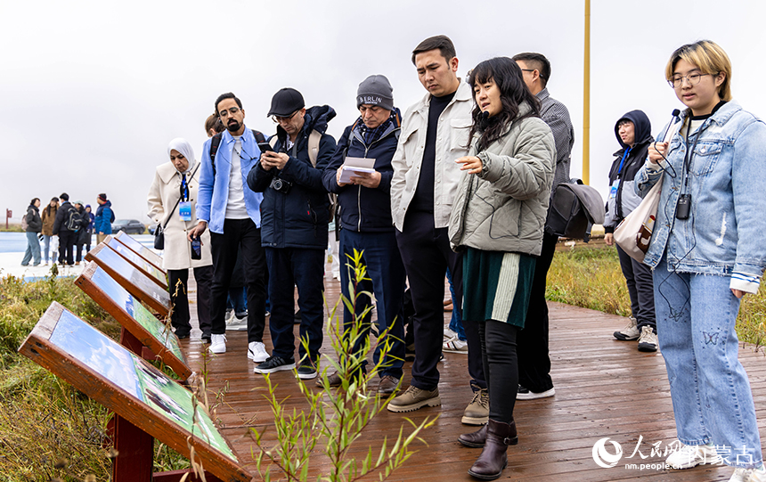
[[[340,225],[357,233],[383,233],[394,231],[394,221],[391,217],[391,177],[394,168],[391,159],[394,158],[396,143],[401,129],[399,111],[395,110],[397,121],[388,127],[387,131],[370,146],[365,146],[360,132],[361,121],[354,126],[346,127],[343,137],[338,142],[338,148],[330,159],[330,164],[324,169],[322,182],[330,192],[338,193],[340,206]],[[380,184],[375,189],[360,185],[348,184],[338,186],[336,174],[338,167],[343,165],[346,156],[352,158],[375,158],[375,170],[380,173]],[[336,221],[338,222],[338,221]]]

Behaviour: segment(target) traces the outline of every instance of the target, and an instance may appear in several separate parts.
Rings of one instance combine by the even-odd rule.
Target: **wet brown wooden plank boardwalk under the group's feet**
[[[329,266],[327,272],[330,273]],[[339,283],[328,276],[325,287],[327,298],[334,302],[338,298]],[[190,290],[193,299],[196,295],[193,282]],[[450,313],[444,314],[445,322],[449,321],[449,317]],[[675,440],[676,432],[662,355],[640,353],[635,342],[615,340],[612,333],[623,328],[625,323],[626,320],[619,316],[550,303],[551,376],[556,396],[517,402],[514,417],[519,444],[509,447],[509,466],[503,471],[501,480],[729,479],[732,470],[728,467],[702,466],[691,470],[626,467],[626,464],[663,462],[664,456],[652,454],[652,445],[661,442],[660,447],[664,450]],[[196,320],[192,324],[196,326]],[[249,429],[261,431],[271,427],[265,440],[273,441],[273,415],[261,395],[265,393],[264,378],[253,373],[253,364],[246,356],[247,333],[230,331],[226,336],[228,351],[224,355],[203,357],[200,353],[203,347],[200,331],[196,329],[192,331],[191,339],[182,340],[182,346],[195,372],[202,370],[203,358],[207,358],[211,393],[225,391],[216,409],[222,431],[232,440],[240,460],[256,475],[251,455],[256,449],[249,437]],[[271,352],[268,327],[265,344]],[[322,352],[330,353],[326,339]],[[357,442],[361,455],[368,445],[372,445],[375,452],[383,436],[395,438],[399,427],[407,424],[404,416],[416,423],[427,416],[439,416],[434,427],[422,433],[428,445],[416,442],[414,447],[418,453],[390,480],[475,480],[467,474],[467,470],[480,449],[470,449],[456,441],[460,433],[473,430],[460,423],[462,411],[471,398],[467,358],[449,353],[444,356],[444,363],[439,364],[441,407],[405,414],[384,411],[372,422],[370,431]],[[761,437],[764,438],[766,360],[763,349],[756,351],[752,346],[742,347],[739,357],[750,376]],[[405,383],[409,381],[411,365],[404,366]],[[306,407],[292,372],[274,373],[272,380],[279,383],[277,393],[281,398],[289,396],[286,406]],[[307,381],[307,385],[313,388],[314,380]],[[592,457],[593,445],[604,437],[623,447],[623,458],[614,468],[601,468]],[[640,439],[640,453],[628,458]],[[610,453],[615,452],[610,444],[607,444],[607,449]],[[319,452],[312,460],[311,473],[314,473],[312,479],[315,479],[317,473],[326,470],[326,465],[322,463]]]

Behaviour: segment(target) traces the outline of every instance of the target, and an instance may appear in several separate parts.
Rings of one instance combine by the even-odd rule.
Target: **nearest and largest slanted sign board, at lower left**
[[[251,480],[192,392],[59,303],[19,352],[187,458],[189,439],[195,459],[217,478]]]

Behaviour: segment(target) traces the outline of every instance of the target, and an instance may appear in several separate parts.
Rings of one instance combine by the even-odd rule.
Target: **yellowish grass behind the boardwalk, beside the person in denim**
[[[614,248],[577,246],[557,251],[548,272],[546,297],[612,315],[630,316],[631,298]],[[766,290],[747,295],[739,308],[740,341],[766,344]]]

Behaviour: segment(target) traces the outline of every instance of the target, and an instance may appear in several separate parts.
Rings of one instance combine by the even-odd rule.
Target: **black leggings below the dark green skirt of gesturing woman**
[[[518,388],[517,327],[488,320],[478,323],[481,356],[489,390],[489,418],[510,423]]]

